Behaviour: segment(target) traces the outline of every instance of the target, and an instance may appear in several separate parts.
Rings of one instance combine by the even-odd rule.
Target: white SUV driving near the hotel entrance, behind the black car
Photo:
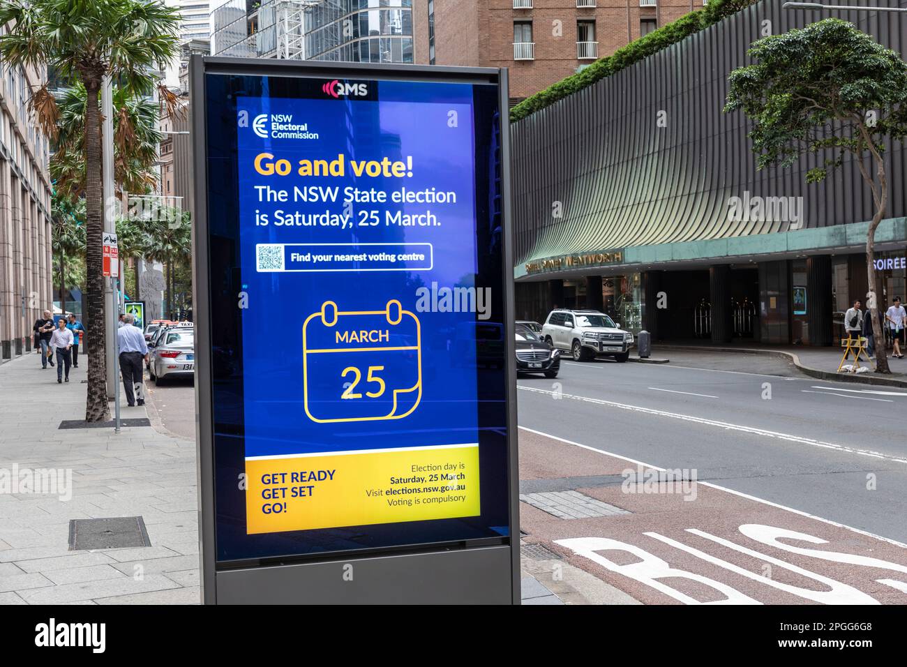
[[[551,310],[541,338],[555,348],[570,350],[574,361],[613,357],[622,363],[633,345],[633,334],[599,310]]]

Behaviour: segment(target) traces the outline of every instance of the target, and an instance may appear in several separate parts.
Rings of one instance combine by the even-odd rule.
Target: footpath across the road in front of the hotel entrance
[[[837,372],[844,348],[810,348],[803,345],[760,345],[752,340],[735,341],[724,345],[701,341],[695,344],[686,341],[677,343],[664,342],[653,346],[653,354],[658,357],[670,357],[671,350],[701,351],[701,352],[736,352],[741,354],[775,355],[794,363],[801,372],[813,378],[828,381],[855,382],[867,385],[881,385],[883,387],[907,387],[907,358],[895,359],[891,357],[892,351],[888,350],[888,367],[891,375],[881,375],[875,372],[875,360],[868,363],[861,358],[860,365],[870,368],[865,373]],[[853,359],[846,364],[853,363]],[[846,365],[845,364],[845,365]]]

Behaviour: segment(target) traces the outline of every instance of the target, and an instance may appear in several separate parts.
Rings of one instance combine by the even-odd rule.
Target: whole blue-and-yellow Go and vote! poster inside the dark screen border
[[[480,514],[475,316],[417,307],[476,270],[472,87],[347,87],[238,101],[249,534]]]

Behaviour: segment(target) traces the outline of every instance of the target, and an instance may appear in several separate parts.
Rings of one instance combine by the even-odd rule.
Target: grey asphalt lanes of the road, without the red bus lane
[[[907,542],[907,390],[778,372],[565,361],[520,424]]]

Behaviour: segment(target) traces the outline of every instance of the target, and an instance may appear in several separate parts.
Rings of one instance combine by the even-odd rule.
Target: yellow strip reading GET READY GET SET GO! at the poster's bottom
[[[479,446],[246,460],[249,535],[481,514]]]

